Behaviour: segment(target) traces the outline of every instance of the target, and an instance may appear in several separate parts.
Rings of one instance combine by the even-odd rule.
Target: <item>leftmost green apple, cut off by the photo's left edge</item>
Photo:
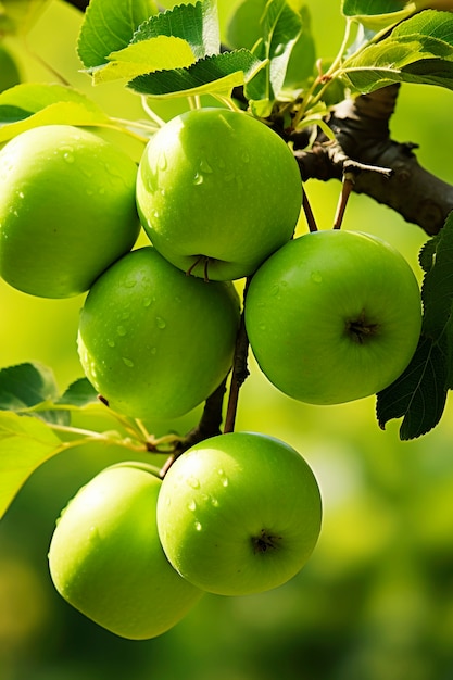
[[[85,292],[134,245],[137,166],[88,130],[47,125],[0,151],[0,276],[43,298]]]

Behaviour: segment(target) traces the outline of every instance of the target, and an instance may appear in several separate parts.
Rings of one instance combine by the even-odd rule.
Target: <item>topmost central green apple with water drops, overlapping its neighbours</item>
[[[153,245],[174,265],[210,280],[252,274],[287,242],[302,184],[285,141],[246,113],[186,112],[148,143],[137,206]]]

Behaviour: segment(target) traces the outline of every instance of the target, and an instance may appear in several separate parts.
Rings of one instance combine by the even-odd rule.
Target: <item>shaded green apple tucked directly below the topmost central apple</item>
[[[186,276],[152,247],[96,281],[79,318],[85,373],[117,412],[176,418],[228,374],[239,326],[231,282]]]

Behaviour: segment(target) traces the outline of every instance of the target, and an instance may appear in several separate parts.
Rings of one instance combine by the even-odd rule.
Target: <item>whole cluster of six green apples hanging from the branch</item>
[[[88,293],[80,363],[119,414],[173,419],[205,401],[231,369],[241,315],[261,370],[306,403],[374,394],[416,349],[421,303],[407,262],[358,231],[294,238],[299,167],[248,114],[178,115],[138,167],[90,131],[38,127],[0,151],[0,276],[34,295]],[[151,244],[138,248],[141,228]],[[320,517],[298,452],[230,432],[181,454],[163,480],[134,462],[101,471],[62,513],[50,570],[101,626],[152,638],[203,592],[292,578]]]

